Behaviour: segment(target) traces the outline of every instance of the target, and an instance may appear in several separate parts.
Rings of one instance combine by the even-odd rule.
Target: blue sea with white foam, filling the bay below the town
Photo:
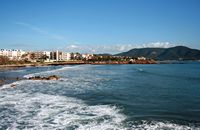
[[[0,72],[2,79],[50,75],[60,79],[0,86],[0,130],[200,130],[200,62]]]

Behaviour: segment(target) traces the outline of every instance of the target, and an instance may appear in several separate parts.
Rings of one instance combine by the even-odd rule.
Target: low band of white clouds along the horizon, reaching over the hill
[[[64,50],[68,52],[80,53],[110,53],[116,54],[120,52],[129,51],[133,48],[168,48],[174,44],[170,42],[151,42],[147,44],[101,44],[101,45],[87,45],[87,44],[69,44]]]

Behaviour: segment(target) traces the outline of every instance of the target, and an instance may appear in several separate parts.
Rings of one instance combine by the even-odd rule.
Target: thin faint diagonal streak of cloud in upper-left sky
[[[56,40],[64,40],[64,37],[58,34],[54,34],[54,33],[50,33],[40,27],[37,27],[35,25],[29,24],[29,23],[25,23],[25,22],[16,22],[15,24],[26,27],[28,29],[31,29],[33,31],[35,31],[36,33],[48,36],[49,38],[52,39],[56,39]]]

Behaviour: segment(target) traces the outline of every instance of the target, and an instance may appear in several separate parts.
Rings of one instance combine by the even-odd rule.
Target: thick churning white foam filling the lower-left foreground
[[[0,129],[120,129],[126,119],[115,106],[41,93],[5,95],[0,106]]]

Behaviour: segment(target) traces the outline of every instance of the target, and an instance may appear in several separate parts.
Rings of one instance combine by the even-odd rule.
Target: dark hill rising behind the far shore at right
[[[200,60],[200,50],[191,49],[185,46],[171,48],[137,48],[116,54],[116,56],[144,56],[156,60]]]

